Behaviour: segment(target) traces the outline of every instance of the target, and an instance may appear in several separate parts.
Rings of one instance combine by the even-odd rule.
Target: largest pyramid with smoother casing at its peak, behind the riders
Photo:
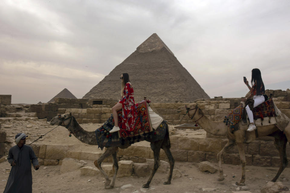
[[[135,103],[146,96],[152,102],[192,102],[210,98],[156,33],[85,94],[83,99],[120,99],[122,73],[134,88]]]

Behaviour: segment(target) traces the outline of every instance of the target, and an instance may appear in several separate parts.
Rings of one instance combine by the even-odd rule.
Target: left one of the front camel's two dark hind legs
[[[160,148],[162,145],[163,140],[159,140],[159,141],[155,141],[150,143],[151,149],[153,150],[154,153],[154,166],[153,166],[153,170],[151,172],[151,175],[147,181],[146,184],[143,184],[143,188],[149,188],[149,184],[155,174],[155,172],[157,171],[158,167],[160,166],[160,160],[159,160],[159,153],[160,153]]]

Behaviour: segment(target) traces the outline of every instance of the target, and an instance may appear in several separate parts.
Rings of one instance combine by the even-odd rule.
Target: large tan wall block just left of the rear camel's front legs
[[[221,139],[199,139],[199,151],[208,151],[208,152],[220,152],[222,150],[221,147],[222,140]]]

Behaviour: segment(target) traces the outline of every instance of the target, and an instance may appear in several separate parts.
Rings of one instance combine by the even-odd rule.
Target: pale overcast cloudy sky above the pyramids
[[[153,33],[205,92],[242,97],[259,68],[266,89],[290,88],[289,0],[3,0],[0,94],[82,98]]]

